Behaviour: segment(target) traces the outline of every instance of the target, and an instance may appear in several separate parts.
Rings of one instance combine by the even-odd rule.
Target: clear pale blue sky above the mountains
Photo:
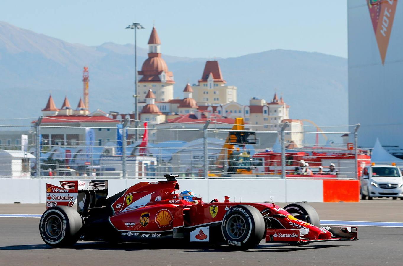
[[[234,57],[271,49],[347,57],[347,0],[19,0],[3,1],[0,20],[67,42],[133,43],[131,22],[155,22],[162,52]]]

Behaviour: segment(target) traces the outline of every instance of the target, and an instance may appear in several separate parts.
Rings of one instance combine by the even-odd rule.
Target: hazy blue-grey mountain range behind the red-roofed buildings
[[[59,108],[65,95],[75,107],[82,95],[83,66],[89,67],[91,110],[132,111],[133,50],[132,44],[71,44],[0,22],[1,117],[39,116],[50,92]],[[183,98],[186,83],[197,83],[208,58],[166,55],[164,40],[161,50],[174,73],[174,95]],[[137,51],[141,69],[147,50]],[[248,104],[252,96],[270,100],[277,91],[291,106],[291,118],[347,125],[346,58],[270,50],[217,60],[228,85],[238,87],[241,104]]]

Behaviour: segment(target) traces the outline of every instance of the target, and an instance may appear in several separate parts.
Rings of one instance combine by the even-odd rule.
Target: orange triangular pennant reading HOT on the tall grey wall
[[[385,62],[397,0],[367,0],[382,64]]]

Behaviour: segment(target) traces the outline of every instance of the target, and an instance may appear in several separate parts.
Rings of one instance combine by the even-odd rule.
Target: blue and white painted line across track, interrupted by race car
[[[42,214],[0,214],[0,217],[41,218]],[[322,225],[368,226],[368,227],[403,227],[403,222],[366,222],[366,221],[334,221],[321,220]]]

